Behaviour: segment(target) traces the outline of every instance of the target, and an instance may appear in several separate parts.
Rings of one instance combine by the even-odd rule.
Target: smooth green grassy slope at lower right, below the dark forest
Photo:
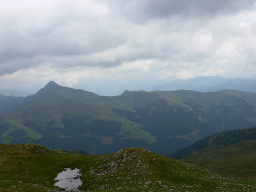
[[[204,150],[178,160],[202,166],[225,177],[256,181],[256,140]]]

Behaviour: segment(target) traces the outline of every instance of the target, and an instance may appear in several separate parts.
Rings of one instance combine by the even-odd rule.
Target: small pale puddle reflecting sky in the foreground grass
[[[78,186],[81,186],[83,182],[80,179],[81,173],[80,169],[70,169],[65,168],[66,170],[60,172],[54,180],[58,180],[54,186],[60,188],[65,188],[66,191],[77,190]]]

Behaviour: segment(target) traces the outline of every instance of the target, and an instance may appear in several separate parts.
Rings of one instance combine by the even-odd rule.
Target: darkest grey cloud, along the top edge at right
[[[135,22],[179,15],[182,18],[212,17],[255,8],[252,0],[129,0],[116,1],[121,14]],[[203,18],[201,18],[203,19]]]

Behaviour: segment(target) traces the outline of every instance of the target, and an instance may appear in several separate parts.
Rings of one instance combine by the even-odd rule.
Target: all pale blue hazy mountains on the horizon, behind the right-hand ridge
[[[256,93],[256,74],[252,78],[222,78],[220,76],[197,76],[187,80],[174,80],[164,85],[150,87],[146,90],[195,90],[200,92],[232,89]]]

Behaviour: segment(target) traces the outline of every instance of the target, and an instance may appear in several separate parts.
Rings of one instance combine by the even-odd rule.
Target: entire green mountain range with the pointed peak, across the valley
[[[4,130],[7,125],[3,143],[33,142],[90,154],[131,146],[168,154],[210,134],[256,125],[256,94],[234,90],[126,90],[107,97],[49,82],[21,103],[0,120]]]

